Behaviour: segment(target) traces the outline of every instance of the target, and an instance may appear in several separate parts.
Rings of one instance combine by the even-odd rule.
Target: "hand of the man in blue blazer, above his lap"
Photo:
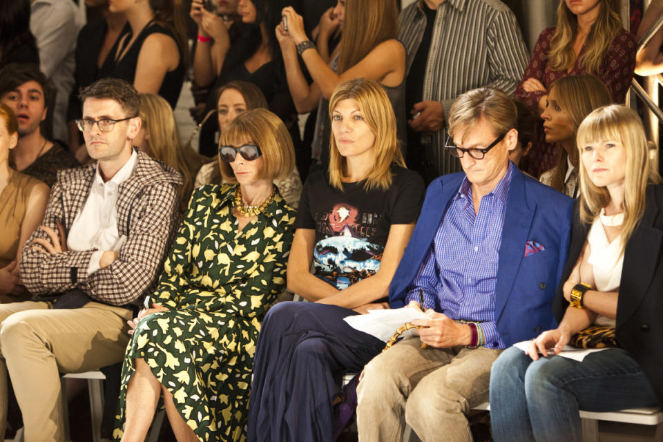
[[[472,331],[467,324],[459,324],[443,313],[432,309],[426,310],[430,319],[415,319],[414,325],[423,325],[423,329],[416,329],[421,342],[436,348],[449,348],[454,345],[470,345]]]

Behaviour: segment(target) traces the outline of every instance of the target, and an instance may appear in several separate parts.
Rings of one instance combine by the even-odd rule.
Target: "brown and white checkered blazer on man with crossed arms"
[[[177,189],[182,177],[162,162],[137,153],[133,174],[119,186],[117,231],[127,240],[117,260],[88,276],[94,250],[50,255],[41,247],[33,249],[35,238],[48,240],[37,229],[23,247],[20,262],[23,284],[35,298],[79,289],[99,302],[127,305],[140,303],[153,291],[180,221]],[[95,166],[59,171],[42,224],[57,232],[56,220],[60,220],[68,234],[88,198],[95,171]]]

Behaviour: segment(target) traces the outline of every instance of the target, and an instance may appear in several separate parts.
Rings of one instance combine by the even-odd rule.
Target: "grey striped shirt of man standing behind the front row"
[[[423,0],[416,1],[398,19],[398,39],[407,52],[406,75],[426,28],[422,8],[427,8]],[[441,102],[445,115],[449,115],[454,99],[467,90],[492,86],[512,94],[527,61],[528,53],[515,15],[504,3],[443,1],[435,17],[422,99]],[[459,160],[444,154],[445,139],[445,130],[422,135],[425,157],[440,175],[461,171]]]

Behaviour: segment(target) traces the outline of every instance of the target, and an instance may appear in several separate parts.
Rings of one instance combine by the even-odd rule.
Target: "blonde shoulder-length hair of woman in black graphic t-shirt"
[[[401,144],[396,138],[396,115],[392,103],[383,87],[367,78],[349,79],[336,86],[329,100],[329,115],[332,118],[336,104],[344,99],[356,100],[359,112],[375,135],[373,167],[363,179],[364,188],[386,191],[392,185],[392,164],[405,168]],[[329,184],[340,190],[343,190],[345,161],[345,157],[338,152],[332,131],[329,148]]]

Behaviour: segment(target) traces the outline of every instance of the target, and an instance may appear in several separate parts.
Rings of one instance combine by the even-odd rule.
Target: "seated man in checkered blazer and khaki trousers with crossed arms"
[[[64,441],[59,373],[122,361],[126,321],[155,286],[179,221],[179,173],[133,148],[139,99],[102,79],[81,92],[77,120],[92,166],[61,171],[20,269],[32,301],[0,305],[0,435],[6,374],[25,440]]]

